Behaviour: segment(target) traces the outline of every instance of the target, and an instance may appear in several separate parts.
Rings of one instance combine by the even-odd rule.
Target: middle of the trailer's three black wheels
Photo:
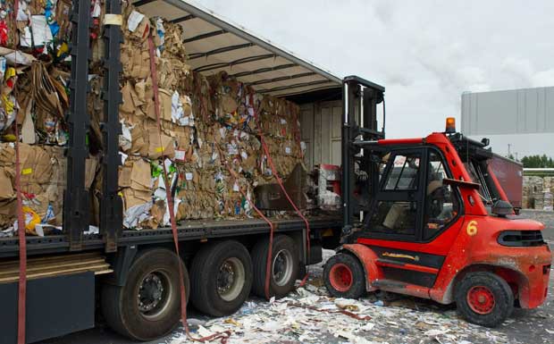
[[[192,304],[207,315],[231,315],[252,288],[252,262],[247,248],[234,240],[201,248],[192,261]]]

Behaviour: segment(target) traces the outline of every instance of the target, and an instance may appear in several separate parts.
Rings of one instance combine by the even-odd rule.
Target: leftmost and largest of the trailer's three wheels
[[[180,264],[189,298],[189,273]],[[180,321],[177,255],[165,248],[141,253],[124,286],[103,285],[101,306],[108,325],[132,340],[155,340],[171,332]]]

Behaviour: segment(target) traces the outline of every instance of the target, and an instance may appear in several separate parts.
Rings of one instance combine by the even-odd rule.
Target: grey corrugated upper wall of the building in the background
[[[554,132],[554,87],[465,93],[461,125],[466,135]]]

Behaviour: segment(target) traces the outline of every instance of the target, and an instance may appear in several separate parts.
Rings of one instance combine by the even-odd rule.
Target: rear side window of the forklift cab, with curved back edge
[[[459,204],[452,187],[442,180],[449,178],[441,155],[430,150],[425,190],[424,240],[431,239],[449,226],[459,212]]]

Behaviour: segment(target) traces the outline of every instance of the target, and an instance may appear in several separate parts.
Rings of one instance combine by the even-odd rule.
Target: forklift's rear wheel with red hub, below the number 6
[[[457,284],[456,305],[468,322],[496,327],[514,310],[514,294],[494,273],[468,273]]]

